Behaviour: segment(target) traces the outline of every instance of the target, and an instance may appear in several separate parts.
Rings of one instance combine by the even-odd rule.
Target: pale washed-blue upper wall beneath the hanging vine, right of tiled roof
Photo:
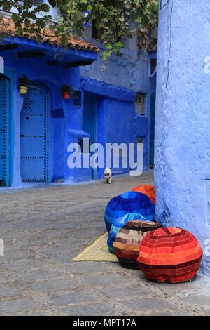
[[[134,28],[134,23],[131,24]],[[146,92],[149,89],[149,75],[151,73],[151,55],[141,51],[138,54],[138,38],[132,34],[132,39],[126,38],[123,41],[123,56],[112,55],[106,65],[103,61],[104,45],[92,38],[92,26],[85,29],[83,39],[90,41],[100,49],[97,61],[92,65],[80,67],[80,73],[85,77],[104,81],[106,84],[113,84],[132,88],[134,91]],[[156,56],[153,54],[153,56]],[[102,71],[102,66],[106,65],[106,70]]]

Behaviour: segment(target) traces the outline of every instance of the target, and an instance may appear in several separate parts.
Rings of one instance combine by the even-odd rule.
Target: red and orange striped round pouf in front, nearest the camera
[[[195,277],[201,260],[202,249],[193,234],[165,227],[142,239],[137,262],[149,279],[179,283]]]

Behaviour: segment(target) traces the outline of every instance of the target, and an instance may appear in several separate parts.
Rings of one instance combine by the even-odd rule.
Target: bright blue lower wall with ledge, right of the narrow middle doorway
[[[80,88],[83,93],[91,95],[96,100],[96,141],[101,143],[106,150],[106,143],[135,143],[136,136],[134,123],[134,91],[105,84],[104,81],[97,81],[87,77],[81,77]],[[83,112],[83,109],[81,109]],[[126,118],[126,119],[125,119]],[[69,131],[69,143],[76,143],[77,138],[88,137],[88,134],[83,131],[83,113],[81,113],[80,127],[77,131]],[[78,124],[77,123],[77,124]],[[82,130],[83,132],[81,133]],[[104,153],[104,168],[105,168]],[[104,168],[95,171],[95,178],[102,178],[104,176]],[[91,169],[70,169],[67,168],[66,178],[69,180],[90,180]],[[122,169],[113,169],[113,173],[122,174],[130,171],[128,166]]]

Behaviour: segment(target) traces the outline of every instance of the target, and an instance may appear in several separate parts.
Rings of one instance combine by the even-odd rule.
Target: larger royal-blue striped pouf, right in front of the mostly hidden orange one
[[[111,199],[106,206],[104,220],[108,232],[114,220],[123,218],[127,213],[139,213],[146,220],[155,221],[155,204],[141,192],[125,192]]]

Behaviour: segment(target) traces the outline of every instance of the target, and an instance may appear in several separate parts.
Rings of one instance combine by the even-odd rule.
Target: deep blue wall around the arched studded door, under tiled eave
[[[22,48],[17,48],[22,51]],[[49,51],[50,48],[48,48]],[[50,49],[54,53],[53,49]],[[88,52],[87,52],[88,53]],[[48,53],[50,55],[51,53]],[[85,52],[76,53],[81,55]],[[52,54],[51,54],[52,55]],[[23,104],[23,96],[18,88],[18,77],[26,74],[29,79],[45,84],[50,89],[50,110],[62,108],[64,118],[53,118],[50,114],[50,146],[52,149],[50,159],[50,180],[53,178],[66,178],[67,145],[69,143],[68,130],[81,129],[82,108],[73,108],[72,98],[66,101],[60,94],[63,84],[72,84],[73,88],[80,88],[79,68],[65,69],[65,63],[59,62],[57,67],[45,64],[45,58],[18,58],[16,51],[1,51],[4,58],[5,74],[12,79],[12,104],[13,104],[13,166],[11,171],[11,185],[22,185],[20,176],[20,112]],[[95,55],[94,55],[95,56]],[[26,65],[27,61],[27,65]]]

